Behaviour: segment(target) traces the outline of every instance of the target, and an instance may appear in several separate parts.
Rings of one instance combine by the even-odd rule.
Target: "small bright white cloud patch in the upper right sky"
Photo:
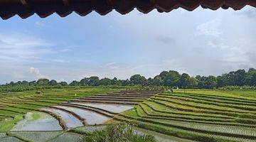
[[[196,27],[198,31],[197,35],[211,35],[214,37],[219,37],[222,32],[220,31],[220,19],[215,18],[213,20],[207,21],[206,23],[201,23]]]

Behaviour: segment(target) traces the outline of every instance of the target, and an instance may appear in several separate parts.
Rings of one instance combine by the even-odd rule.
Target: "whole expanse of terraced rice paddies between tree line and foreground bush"
[[[0,141],[82,141],[86,133],[120,121],[159,141],[256,141],[254,91],[87,88],[18,94],[1,96]]]

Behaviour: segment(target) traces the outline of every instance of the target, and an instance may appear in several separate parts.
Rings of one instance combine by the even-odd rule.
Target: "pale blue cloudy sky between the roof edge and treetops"
[[[124,16],[116,11],[106,16],[14,16],[0,21],[0,83],[154,77],[162,70],[221,75],[256,68],[255,25],[256,11],[250,6],[148,14],[135,9]]]

